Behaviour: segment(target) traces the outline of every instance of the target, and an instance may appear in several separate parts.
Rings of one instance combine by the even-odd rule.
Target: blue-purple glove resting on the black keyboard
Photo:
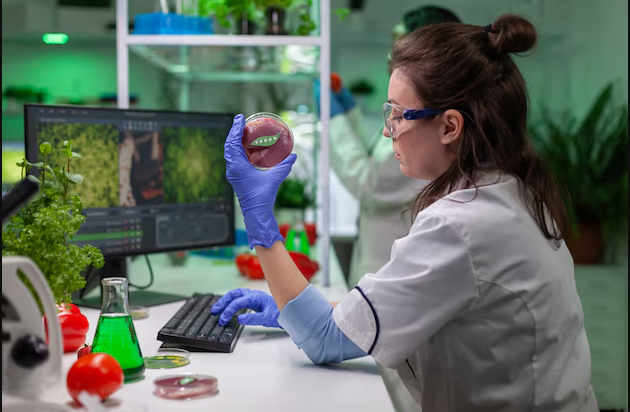
[[[225,326],[232,316],[241,309],[252,309],[256,313],[246,313],[238,316],[241,325],[262,325],[270,328],[282,328],[278,324],[280,311],[270,294],[260,290],[233,289],[223,295],[212,306],[210,313],[218,315],[219,325]]]

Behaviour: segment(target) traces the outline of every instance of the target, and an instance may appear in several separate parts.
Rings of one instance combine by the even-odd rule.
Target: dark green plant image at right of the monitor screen
[[[225,180],[225,136],[201,127],[162,129],[164,201],[201,203],[232,195]]]

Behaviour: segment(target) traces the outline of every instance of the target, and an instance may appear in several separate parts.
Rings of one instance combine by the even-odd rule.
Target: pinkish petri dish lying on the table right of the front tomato
[[[159,398],[190,400],[217,394],[219,381],[210,375],[183,373],[161,376],[153,384],[153,394]]]

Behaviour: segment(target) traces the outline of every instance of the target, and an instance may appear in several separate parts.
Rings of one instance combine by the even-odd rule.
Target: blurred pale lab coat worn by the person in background
[[[392,244],[411,228],[409,214],[403,212],[426,182],[401,173],[391,139],[383,137],[382,129],[368,133],[358,109],[331,119],[330,165],[360,205],[348,278],[354,287],[364,274],[389,261]]]

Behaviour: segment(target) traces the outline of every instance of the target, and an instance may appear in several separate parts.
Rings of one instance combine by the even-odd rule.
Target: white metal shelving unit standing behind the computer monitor
[[[126,109],[129,107],[129,52],[132,47],[136,47],[134,52],[143,53],[142,46],[186,46],[182,47],[182,53],[189,47],[197,46],[218,46],[218,47],[279,47],[279,46],[314,46],[319,48],[319,68],[313,73],[319,75],[322,90],[330,89],[330,0],[319,0],[319,35],[318,36],[255,36],[255,35],[130,35],[128,30],[128,0],[116,0],[116,53],[117,53],[117,75],[118,75],[118,107]],[[140,50],[140,52],[138,51]],[[160,62],[155,56],[148,57],[146,53],[143,57],[165,68],[165,63]],[[185,56],[184,56],[185,57]],[[176,70],[177,71],[177,70]],[[279,76],[283,76],[282,81],[287,79],[293,81],[306,81],[314,78],[314,75],[280,75],[275,73],[226,73],[214,72],[198,77],[187,77],[185,73],[174,73],[179,75],[183,82],[182,93],[180,94],[180,109],[187,109],[187,100],[190,93],[190,81],[280,81]],[[288,77],[287,77],[288,76]],[[318,170],[321,173],[321,190],[323,201],[321,204],[321,227],[320,233],[320,270],[323,279],[323,286],[330,286],[330,202],[328,199],[330,192],[330,181],[328,170],[329,161],[329,125],[330,125],[330,94],[320,95],[320,117],[322,130],[320,134],[320,145],[318,159]]]

